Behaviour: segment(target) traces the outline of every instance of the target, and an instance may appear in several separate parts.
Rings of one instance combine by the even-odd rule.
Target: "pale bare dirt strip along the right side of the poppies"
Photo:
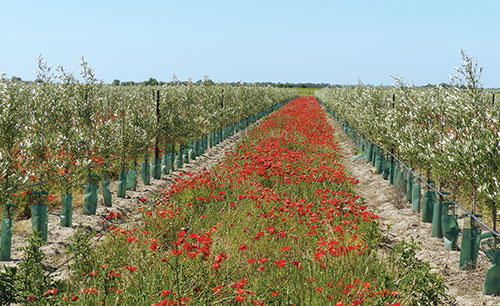
[[[429,261],[431,265],[447,277],[448,293],[456,298],[457,305],[500,305],[500,297],[482,294],[486,271],[490,267],[489,259],[480,251],[478,267],[473,271],[459,269],[460,251],[446,250],[442,238],[432,238],[430,223],[423,223],[411,204],[395,191],[388,180],[375,173],[375,168],[365,159],[352,161],[358,155],[354,141],[348,138],[341,126],[333,119],[330,123],[337,130],[338,145],[343,155],[344,165],[350,175],[359,180],[357,193],[364,197],[371,208],[380,216],[380,220],[391,224],[390,235],[393,242],[413,237],[420,242],[419,259]],[[463,228],[463,219],[459,220]],[[461,240],[458,241],[460,246]]]

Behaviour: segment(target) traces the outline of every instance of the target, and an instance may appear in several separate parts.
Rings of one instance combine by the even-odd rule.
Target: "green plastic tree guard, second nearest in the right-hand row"
[[[479,216],[479,215],[476,215]],[[481,242],[481,229],[478,228],[471,217],[467,216],[462,231],[462,247],[460,249],[460,269],[473,270],[477,265],[479,243]]]

